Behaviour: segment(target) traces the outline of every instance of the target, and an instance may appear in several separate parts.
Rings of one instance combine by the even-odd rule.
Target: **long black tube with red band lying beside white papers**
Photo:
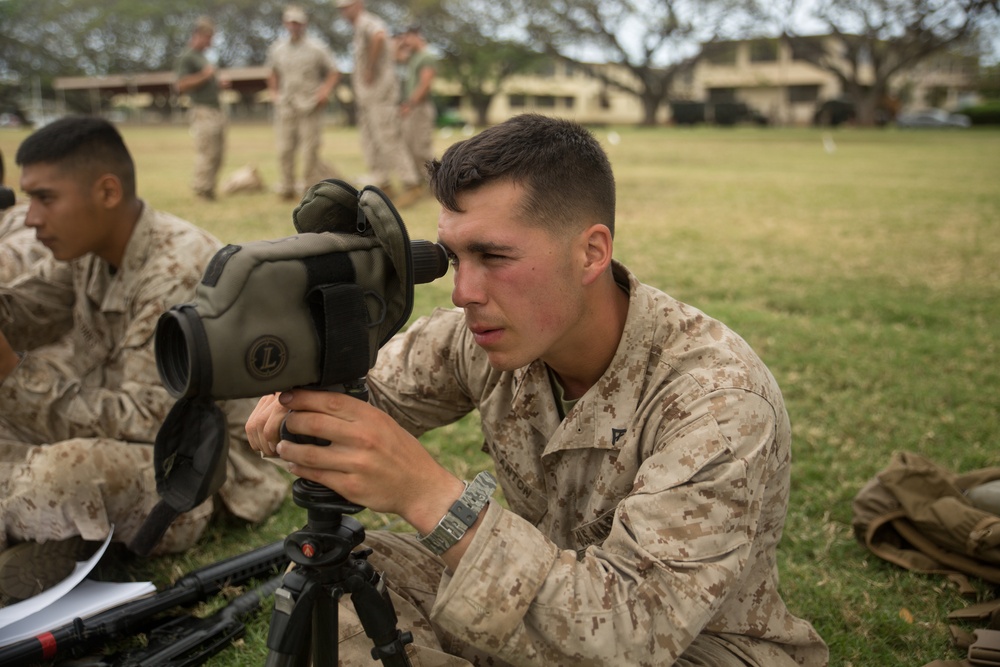
[[[283,571],[288,563],[284,541],[232,556],[185,575],[152,597],[89,618],[75,618],[72,623],[51,632],[4,646],[0,648],[0,665],[15,667],[52,660],[70,650],[135,634],[161,612],[193,604],[231,584],[273,575]]]

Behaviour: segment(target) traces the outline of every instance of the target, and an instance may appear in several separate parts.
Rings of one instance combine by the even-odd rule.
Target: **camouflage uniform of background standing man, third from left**
[[[385,33],[386,42],[373,68],[374,80],[365,83],[362,72],[368,68],[368,43],[379,32]],[[351,85],[358,104],[361,150],[375,185],[389,185],[393,174],[396,174],[404,187],[413,187],[422,181],[403,143],[399,119],[399,81],[389,35],[385,22],[371,12],[362,11],[354,24],[354,76]]]

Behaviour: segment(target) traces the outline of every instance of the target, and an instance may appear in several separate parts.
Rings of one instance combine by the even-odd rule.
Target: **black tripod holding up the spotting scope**
[[[307,440],[284,426],[282,437]],[[266,665],[308,667],[310,656],[313,667],[337,665],[337,603],[350,593],[365,634],[375,645],[372,660],[381,660],[387,667],[409,667],[404,647],[413,635],[396,628],[396,611],[385,581],[367,560],[371,550],[353,551],[364,542],[365,529],[344,515],[364,508],[304,479],[292,485],[292,499],[306,509],[308,522],[285,538],[285,553],[298,567],[285,574],[274,593]]]

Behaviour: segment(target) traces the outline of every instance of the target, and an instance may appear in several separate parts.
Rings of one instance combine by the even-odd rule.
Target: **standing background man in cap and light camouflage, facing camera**
[[[268,51],[268,89],[281,170],[278,194],[297,199],[306,187],[334,175],[324,172],[320,148],[323,114],[340,81],[340,70],[330,49],[306,33],[309,18],[301,7],[286,7],[282,22],[288,34]],[[297,151],[302,153],[304,182],[295,178]]]

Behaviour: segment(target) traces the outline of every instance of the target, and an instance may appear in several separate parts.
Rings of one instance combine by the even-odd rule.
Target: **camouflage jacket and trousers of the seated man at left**
[[[173,406],[156,370],[156,322],[191,299],[219,247],[146,206],[114,273],[94,255],[48,257],[0,286],[0,331],[26,351],[0,383],[0,548],[103,539],[111,523],[116,541],[134,535],[158,500],[150,443]],[[280,504],[286,483],[246,444],[253,403],[223,406],[231,441],[219,495],[234,514],[258,521]],[[181,517],[158,551],[191,546],[212,509],[209,500]]]

